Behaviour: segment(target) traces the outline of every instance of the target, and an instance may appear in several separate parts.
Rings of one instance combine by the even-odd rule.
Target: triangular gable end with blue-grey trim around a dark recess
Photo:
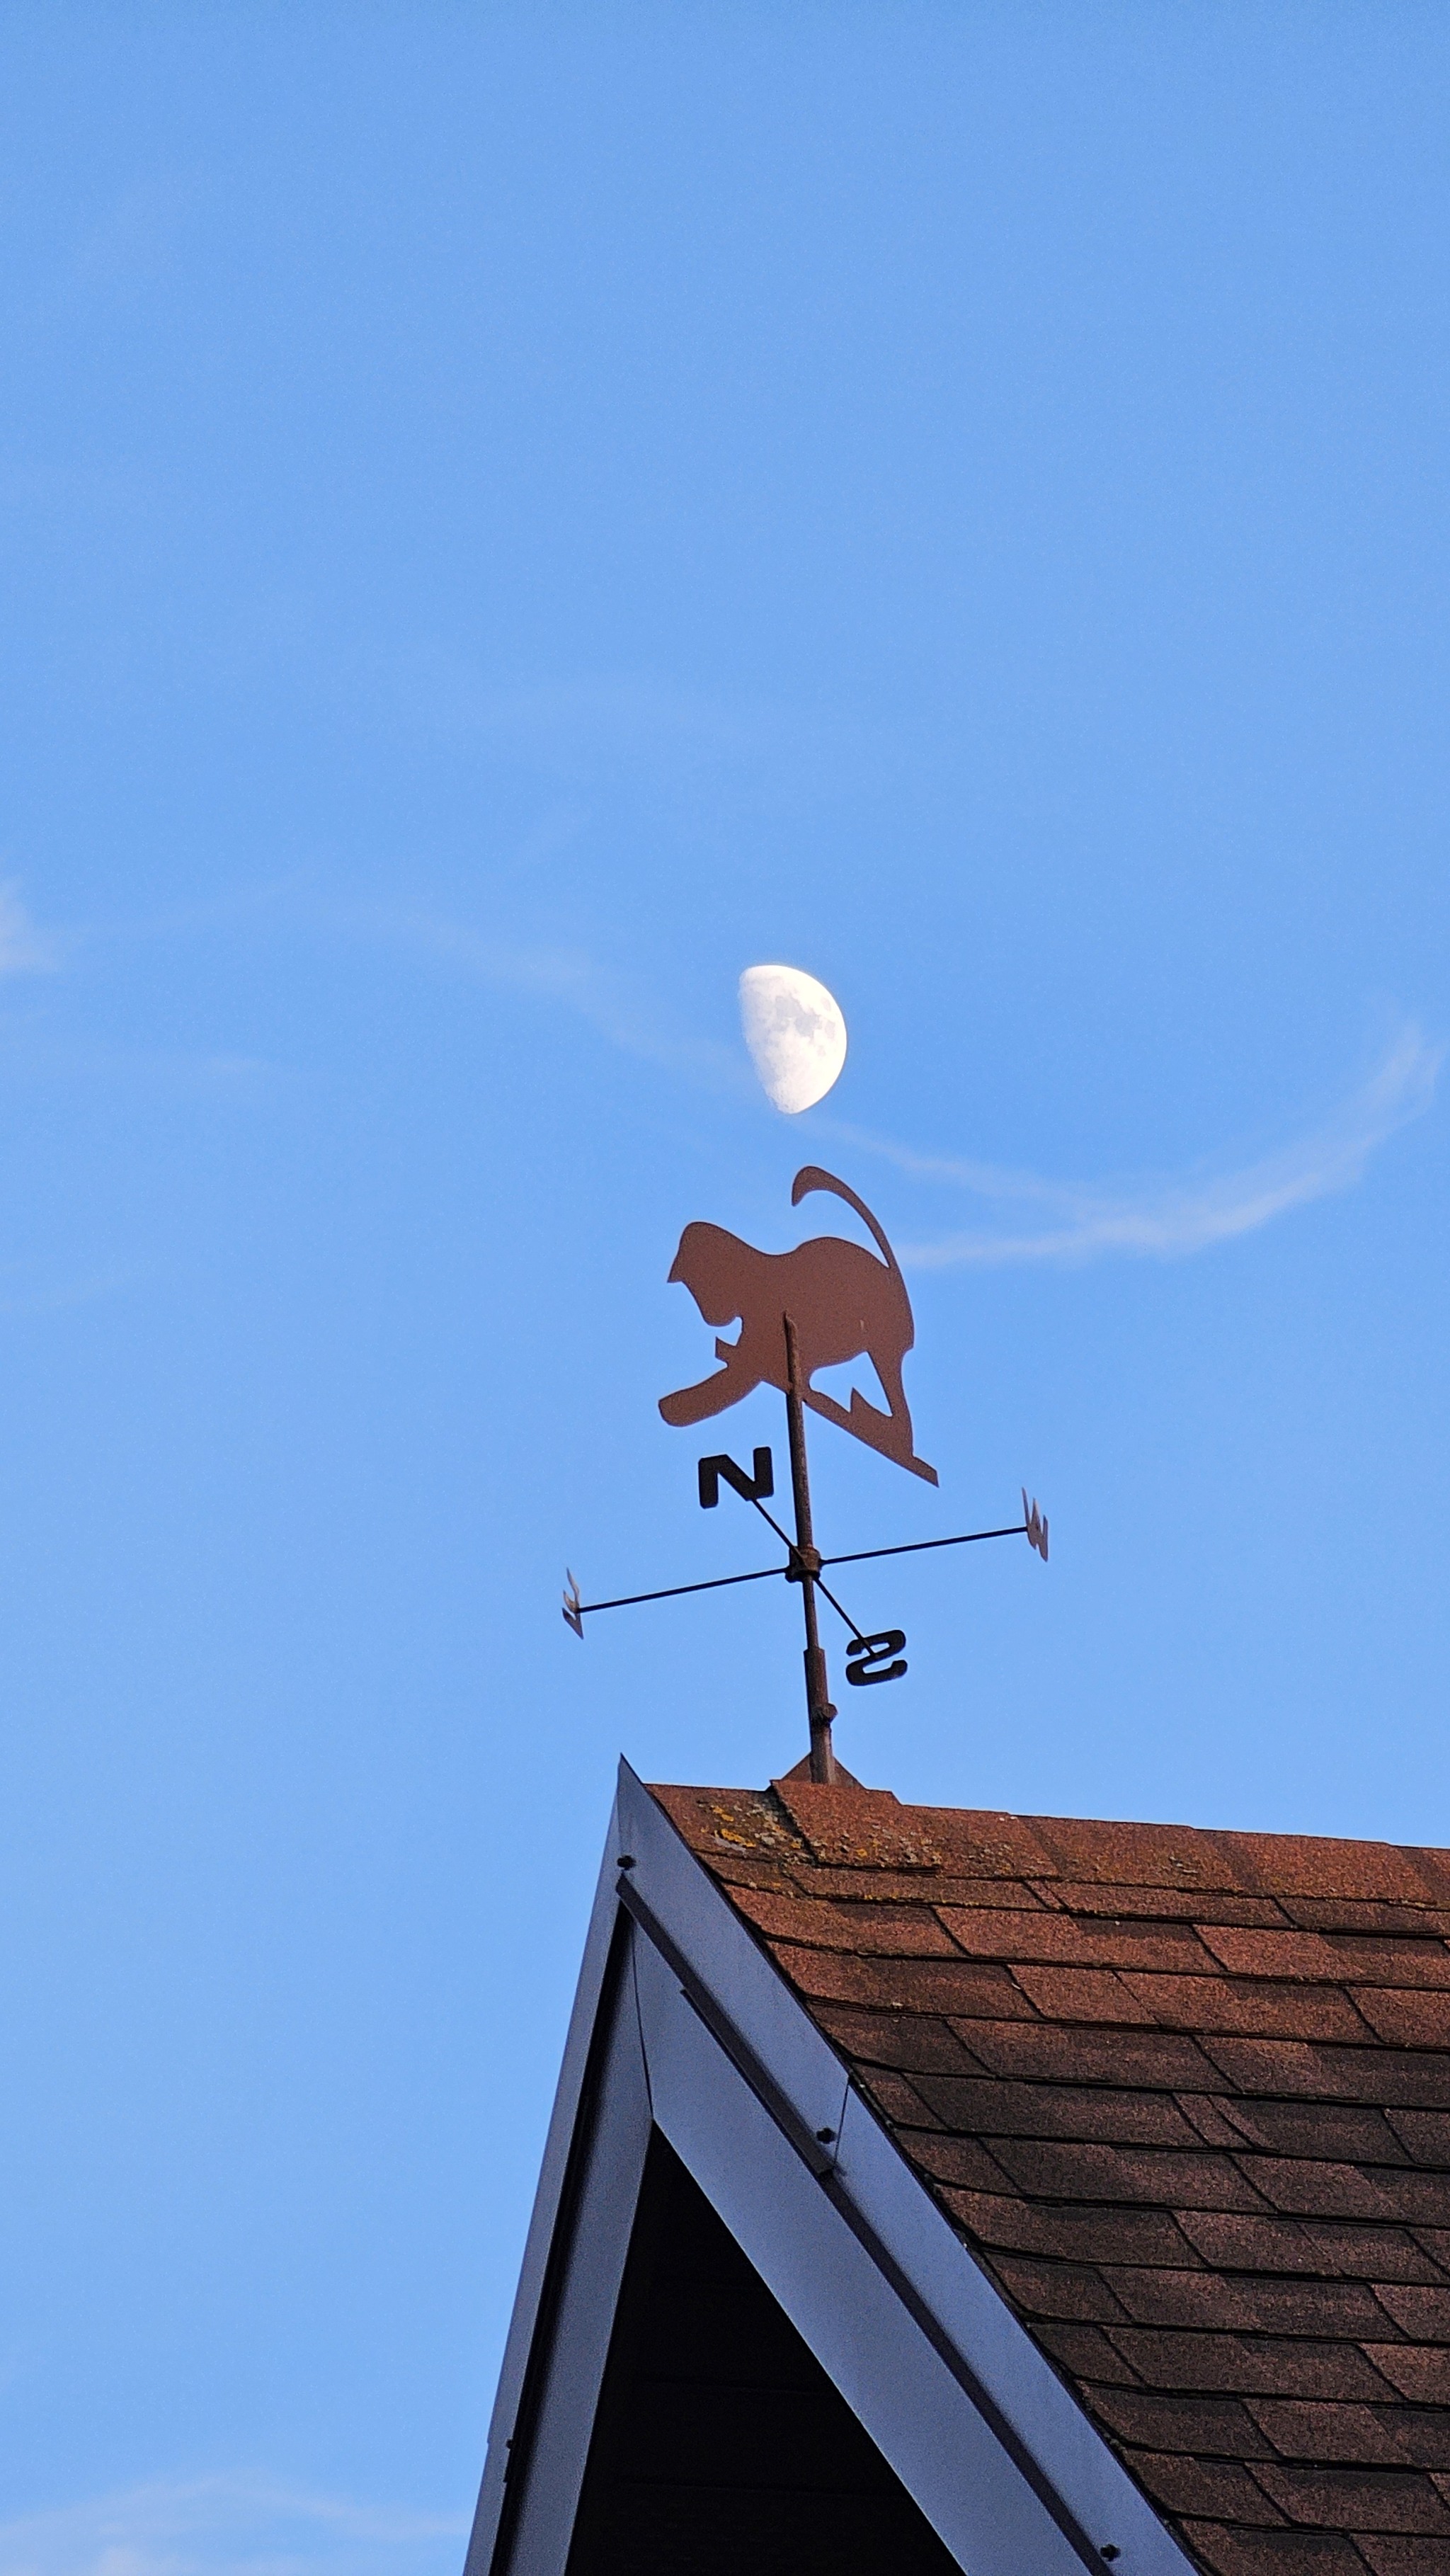
[[[762,1821],[804,1850],[788,1808]],[[1192,2576],[621,1762],[469,2576],[729,2576],[742,2545],[755,2576],[935,2576],[943,2550],[974,2576]]]

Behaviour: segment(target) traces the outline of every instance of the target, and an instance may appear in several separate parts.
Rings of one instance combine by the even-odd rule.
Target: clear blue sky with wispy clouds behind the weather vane
[[[1450,28],[0,46],[0,2576],[440,2576],[616,1757],[804,1749],[783,1587],[556,1613],[760,1561],[688,1218],[909,1252],[827,1540],[1051,1515],[860,1777],[1450,1842]]]

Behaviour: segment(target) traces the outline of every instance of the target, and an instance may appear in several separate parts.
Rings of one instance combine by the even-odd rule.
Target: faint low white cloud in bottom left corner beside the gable
[[[157,2478],[0,2524],[0,2576],[453,2576],[464,2535],[273,2478]]]

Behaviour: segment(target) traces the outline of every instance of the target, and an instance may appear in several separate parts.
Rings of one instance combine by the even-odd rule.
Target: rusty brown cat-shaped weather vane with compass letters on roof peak
[[[564,1618],[574,1636],[582,1638],[585,1620],[600,1610],[631,1610],[639,1602],[677,1600],[685,1592],[724,1592],[729,1584],[762,1584],[773,1579],[801,1584],[806,1618],[806,1716],[811,1726],[811,1749],[804,1770],[811,1780],[834,1780],[832,1718],[837,1710],[829,1700],[816,1592],[845,1620],[845,1677],[855,1687],[899,1682],[907,1672],[907,1636],[901,1628],[858,1628],[824,1582],[824,1569],[860,1566],[878,1556],[922,1556],[930,1548],[968,1548],[981,1538],[1025,1538],[1046,1561],[1048,1525],[1022,1489],[1022,1520],[1012,1520],[1002,1530],[961,1530],[956,1538],[914,1538],[894,1548],[852,1548],[845,1556],[822,1556],[811,1525],[806,1409],[824,1422],[834,1422],[852,1440],[863,1440],[865,1448],[878,1450],[881,1458],[891,1458],[894,1466],[904,1466],[927,1484],[937,1481],[937,1471],[925,1458],[917,1458],[912,1412],[901,1383],[901,1363],[912,1350],[914,1327],[896,1255],[865,1200],[845,1180],[809,1162],[796,1172],[791,1206],[798,1208],[814,1190],[832,1190],[834,1198],[842,1198],[860,1216],[881,1249],[881,1260],[842,1234],[814,1234],[809,1242],[796,1244],[793,1252],[757,1252],[755,1244],[744,1244],[739,1234],[726,1234],[724,1226],[685,1226],[670,1280],[680,1280],[695,1298],[703,1321],[716,1327],[716,1360],[721,1365],[695,1386],[683,1386],[677,1394],[659,1399],[664,1422],[675,1425],[675,1430],[693,1430],[695,1422],[708,1422],[713,1414],[724,1414],[731,1404],[752,1396],[757,1386],[775,1386],[786,1396],[791,1502],[796,1515],[793,1538],[765,1510],[775,1494],[775,1466],[767,1448],[755,1450],[749,1471],[724,1455],[701,1458],[698,1463],[701,1507],[711,1512],[721,1499],[721,1484],[729,1484],[731,1494],[749,1502],[770,1525],[786,1548],[786,1564],[757,1566],[752,1574],[716,1574],[701,1584],[667,1584],[662,1592],[626,1592],[621,1600],[608,1602],[579,1600],[579,1587],[569,1574]],[[721,1334],[721,1327],[729,1324],[739,1324],[734,1342]],[[834,1396],[811,1383],[816,1370],[840,1368],[850,1360],[871,1360],[886,1396],[886,1412],[871,1404],[855,1386],[850,1404],[837,1404]]]

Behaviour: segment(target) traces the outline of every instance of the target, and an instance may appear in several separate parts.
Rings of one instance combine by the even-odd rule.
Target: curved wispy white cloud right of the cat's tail
[[[966,1262],[1084,1262],[1107,1255],[1185,1260],[1210,1244],[1254,1234],[1313,1198],[1347,1190],[1396,1128],[1424,1115],[1435,1100],[1442,1056],[1445,1048],[1409,1025],[1370,1079],[1295,1144],[1231,1170],[1200,1167],[1180,1180],[1136,1188],[1040,1180],[1035,1172],[914,1154],[909,1146],[860,1131],[850,1136],[901,1172],[966,1190],[999,1211],[997,1224],[901,1244],[901,1262],[917,1270],[950,1270]],[[1022,1211],[1017,1224],[1010,1221],[1010,1208]]]

